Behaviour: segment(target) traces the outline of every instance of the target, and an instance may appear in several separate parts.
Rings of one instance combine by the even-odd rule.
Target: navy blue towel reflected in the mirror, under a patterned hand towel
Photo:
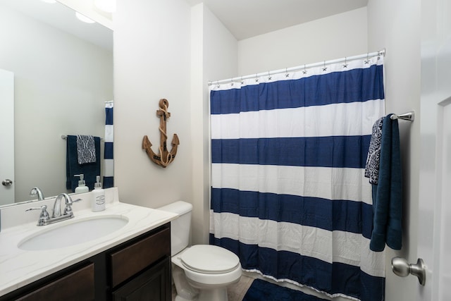
[[[100,137],[94,137],[96,157],[100,158]],[[94,163],[78,164],[77,136],[68,135],[66,150],[66,189],[75,192],[80,178],[74,175],[85,175],[86,185],[89,190],[94,189],[96,176],[100,176],[100,160]]]

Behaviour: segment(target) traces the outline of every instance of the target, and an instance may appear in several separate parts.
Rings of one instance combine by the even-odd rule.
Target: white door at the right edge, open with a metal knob
[[[422,1],[419,301],[451,300],[451,0]]]

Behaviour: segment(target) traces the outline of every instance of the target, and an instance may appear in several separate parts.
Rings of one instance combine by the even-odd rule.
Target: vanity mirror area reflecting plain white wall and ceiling
[[[113,32],[58,2],[0,0],[0,39],[0,69],[14,73],[15,141],[15,199],[0,205],[36,199],[35,186],[45,197],[71,192],[61,135],[104,136]]]

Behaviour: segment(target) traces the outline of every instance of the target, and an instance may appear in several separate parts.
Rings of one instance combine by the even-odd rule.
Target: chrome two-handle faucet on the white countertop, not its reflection
[[[61,214],[61,199],[65,199],[66,208],[64,209],[64,213]],[[73,218],[73,211],[72,211],[72,204],[74,202],[79,202],[82,199],[75,199],[75,201],[72,200],[72,197],[68,195],[67,193],[61,193],[56,197],[54,202],[54,211],[51,217],[47,213],[47,205],[43,205],[41,207],[37,208],[29,208],[25,211],[30,210],[41,210],[41,214],[39,215],[39,220],[37,221],[37,226],[45,226],[49,225],[50,223],[56,223],[57,221],[64,221],[66,219],[72,219]]]

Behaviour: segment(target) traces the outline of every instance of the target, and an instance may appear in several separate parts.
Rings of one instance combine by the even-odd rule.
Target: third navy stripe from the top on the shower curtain
[[[371,239],[373,207],[364,202],[211,188],[211,209],[240,216],[297,223]]]

